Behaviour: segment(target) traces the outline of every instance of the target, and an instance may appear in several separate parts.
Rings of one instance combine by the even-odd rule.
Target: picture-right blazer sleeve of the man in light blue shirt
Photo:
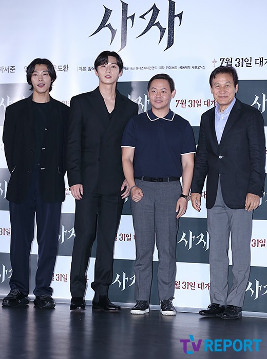
[[[247,193],[253,193],[262,197],[265,178],[266,148],[264,121],[258,110],[253,111],[250,115],[247,137],[249,139],[251,161],[251,175]]]

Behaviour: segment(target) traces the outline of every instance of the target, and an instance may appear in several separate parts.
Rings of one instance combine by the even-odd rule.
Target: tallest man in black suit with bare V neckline
[[[117,312],[107,296],[112,282],[113,246],[129,187],[121,162],[121,138],[138,105],[117,90],[123,62],[103,51],[94,62],[99,87],[70,102],[68,181],[75,198],[75,239],[70,272],[71,310],[84,310],[86,270],[98,232],[93,310]]]

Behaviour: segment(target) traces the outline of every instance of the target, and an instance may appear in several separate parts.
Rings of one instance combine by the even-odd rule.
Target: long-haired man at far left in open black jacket
[[[32,95],[6,109],[3,142],[11,173],[10,208],[12,276],[3,306],[29,303],[29,255],[36,213],[39,246],[34,305],[54,308],[52,280],[58,253],[61,203],[65,198],[65,150],[69,108],[49,92],[56,79],[52,63],[35,58],[27,67]]]

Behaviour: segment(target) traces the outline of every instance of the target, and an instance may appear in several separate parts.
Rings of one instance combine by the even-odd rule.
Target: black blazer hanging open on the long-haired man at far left
[[[3,142],[11,173],[7,200],[21,203],[29,190],[34,164],[34,119],[32,95],[6,109]],[[65,198],[64,174],[69,107],[50,96],[49,119],[44,131],[40,188],[44,202],[62,202]]]

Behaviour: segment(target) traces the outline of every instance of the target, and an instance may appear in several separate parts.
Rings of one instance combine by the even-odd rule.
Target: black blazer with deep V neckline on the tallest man
[[[71,98],[67,147],[69,186],[82,184],[84,190],[119,194],[124,179],[121,138],[138,105],[116,91],[111,119],[99,87]]]

